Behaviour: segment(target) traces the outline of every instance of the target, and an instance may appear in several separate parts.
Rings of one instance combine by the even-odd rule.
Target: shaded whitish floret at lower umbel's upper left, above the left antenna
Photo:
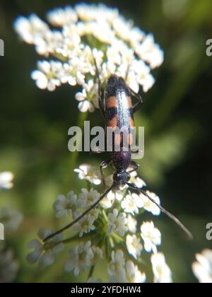
[[[77,208],[77,196],[73,192],[69,192],[67,197],[59,195],[53,204],[57,218],[61,218],[61,216],[71,216],[72,211],[76,211]]]

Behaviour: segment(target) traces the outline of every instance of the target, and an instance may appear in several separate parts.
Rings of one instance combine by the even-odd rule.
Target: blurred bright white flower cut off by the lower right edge
[[[212,250],[206,249],[196,254],[192,270],[201,284],[212,284]]]

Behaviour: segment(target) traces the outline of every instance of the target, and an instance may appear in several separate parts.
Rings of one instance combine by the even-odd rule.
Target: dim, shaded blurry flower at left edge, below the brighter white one
[[[3,207],[0,209],[0,222],[4,224],[4,230],[14,232],[23,221],[23,214],[16,209]]]

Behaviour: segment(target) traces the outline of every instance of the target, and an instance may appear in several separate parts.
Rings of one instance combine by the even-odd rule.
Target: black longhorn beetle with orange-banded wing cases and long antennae
[[[98,71],[98,67],[96,65],[96,69]],[[107,86],[105,88],[105,95],[104,98],[102,98],[101,95],[101,84],[100,84],[100,78],[98,76],[98,84],[99,84],[99,105],[100,105],[100,111],[102,112],[103,117],[105,118],[105,123],[107,127],[119,127],[119,129],[124,128],[123,134],[119,137],[116,137],[117,135],[114,135],[112,139],[112,158],[110,158],[109,161],[103,161],[100,165],[100,171],[102,173],[102,180],[103,178],[103,169],[107,168],[108,165],[113,164],[115,172],[113,174],[113,182],[112,186],[109,187],[105,191],[104,194],[100,196],[100,198],[92,205],[90,206],[86,211],[84,211],[81,216],[78,216],[78,218],[69,223],[68,225],[64,226],[64,228],[61,228],[59,231],[52,233],[47,238],[45,238],[44,241],[49,240],[50,238],[54,237],[55,235],[63,232],[67,228],[71,228],[76,222],[83,219],[83,217],[88,214],[95,206],[99,204],[99,202],[111,191],[111,190],[117,190],[120,187],[124,185],[128,185],[129,188],[132,190],[135,190],[136,192],[142,193],[148,199],[153,202],[160,211],[162,211],[164,214],[170,217],[177,225],[182,228],[182,230],[187,234],[189,238],[192,238],[192,233],[177,219],[173,214],[170,214],[169,211],[164,209],[162,206],[160,206],[158,203],[155,202],[153,198],[151,198],[144,190],[141,190],[140,188],[136,187],[136,185],[129,182],[130,180],[130,173],[134,170],[137,170],[139,168],[139,165],[136,164],[136,162],[131,160],[131,151],[127,150],[126,147],[124,147],[123,144],[123,138],[124,136],[127,139],[128,146],[131,144],[131,134],[130,134],[130,128],[134,127],[134,113],[139,110],[141,105],[143,104],[143,99],[141,96],[129,88],[129,86],[126,85],[126,82],[124,81],[124,78],[121,78],[116,75],[110,76],[110,78],[107,81]],[[139,102],[136,103],[134,106],[132,105],[131,95],[134,95]],[[114,150],[114,145],[119,144],[119,151]],[[139,153],[139,152],[137,152]],[[128,168],[133,168],[132,170],[127,171]],[[105,182],[104,182],[105,185]]]

